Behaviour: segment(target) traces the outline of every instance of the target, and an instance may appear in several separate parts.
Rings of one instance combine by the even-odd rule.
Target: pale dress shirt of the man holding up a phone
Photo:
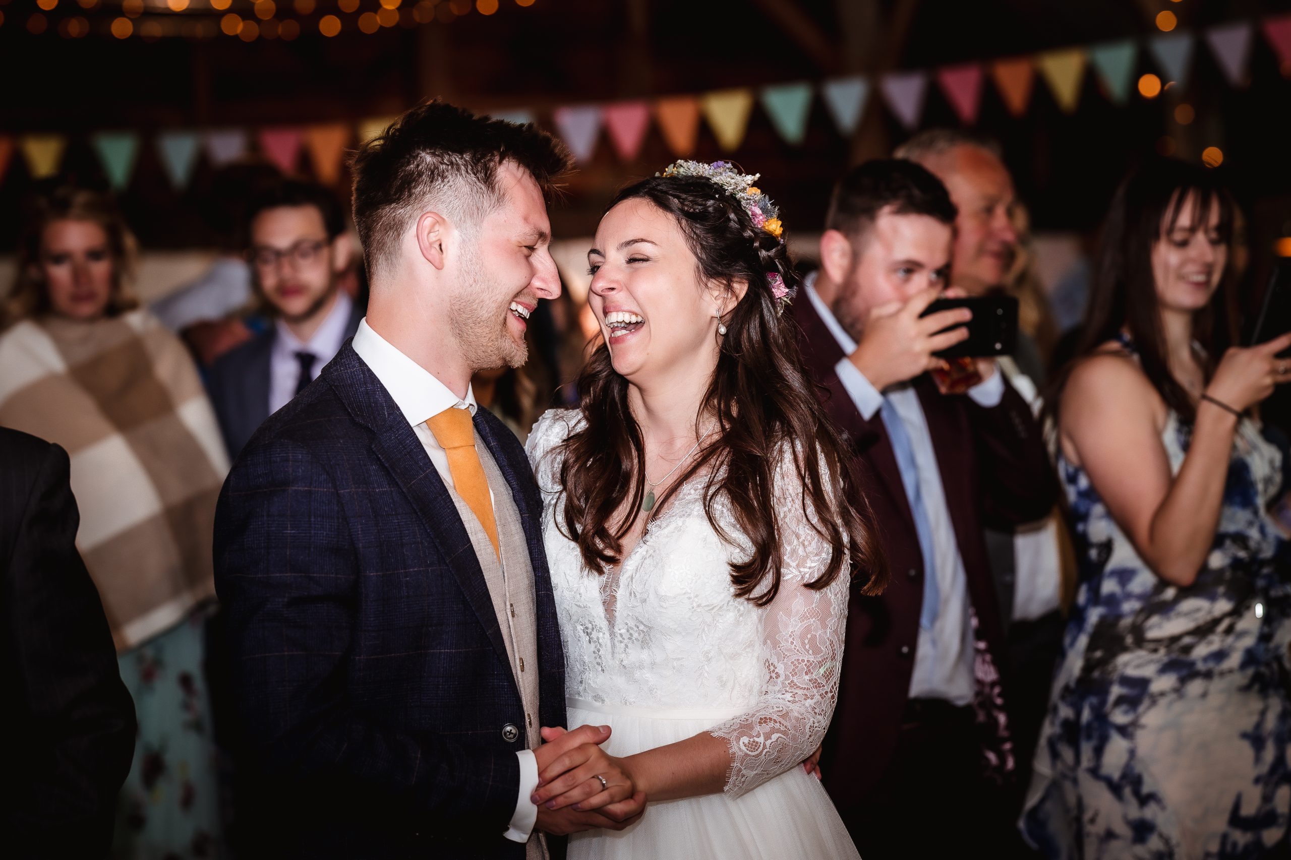
[[[919,628],[919,640],[914,652],[914,671],[910,675],[910,697],[944,699],[955,705],[971,704],[976,684],[973,681],[975,643],[970,620],[968,576],[964,573],[964,563],[959,557],[954,522],[950,519],[950,509],[946,506],[946,493],[941,487],[941,470],[937,466],[937,455],[932,447],[932,436],[928,434],[928,421],[919,404],[919,395],[908,384],[895,385],[887,391],[879,393],[865,378],[865,374],[852,364],[851,359],[846,358],[856,351],[856,341],[821,301],[813,287],[815,283],[816,274],[812,272],[804,284],[807,298],[844,354],[844,358],[834,365],[834,372],[838,373],[838,378],[852,398],[852,403],[856,404],[861,417],[866,421],[871,421],[883,407],[884,395],[891,400],[910,436],[914,462],[919,470],[919,493],[923,497],[928,526],[932,529],[932,566],[937,577],[941,603],[932,628],[930,630]],[[990,378],[970,389],[968,396],[984,407],[998,405],[1001,398],[1004,396],[1003,374],[998,371],[991,373]]]

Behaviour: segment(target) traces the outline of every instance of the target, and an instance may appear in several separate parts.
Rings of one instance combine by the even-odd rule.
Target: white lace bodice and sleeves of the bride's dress
[[[723,710],[710,732],[731,748],[726,792],[742,794],[807,758],[829,727],[838,697],[849,577],[812,590],[829,544],[804,513],[786,453],[776,473],[784,551],[781,588],[766,607],[737,599],[732,559],[750,544],[724,500],[704,513],[704,480],[688,482],[618,568],[613,621],[602,577],[560,533],[564,506],[558,445],[581,424],[553,409],[529,435],[544,498],[544,540],[565,653],[565,692],[602,705]],[[806,506],[809,510],[809,505]]]

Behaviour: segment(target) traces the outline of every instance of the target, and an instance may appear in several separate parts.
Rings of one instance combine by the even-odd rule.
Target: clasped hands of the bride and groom
[[[564,733],[563,728],[544,728],[542,739],[550,742]],[[577,811],[598,810],[616,821],[634,817],[644,808],[644,794],[636,790],[626,761],[607,754],[596,744],[567,749],[538,772],[532,801],[549,810],[567,806]]]

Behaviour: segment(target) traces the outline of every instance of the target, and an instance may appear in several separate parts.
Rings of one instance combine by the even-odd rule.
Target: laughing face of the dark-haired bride
[[[678,368],[710,373],[728,291],[702,282],[673,216],[642,198],[624,200],[600,220],[595,243],[587,301],[615,369],[638,380]]]

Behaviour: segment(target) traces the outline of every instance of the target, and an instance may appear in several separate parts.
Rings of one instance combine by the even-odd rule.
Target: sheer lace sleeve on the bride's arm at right
[[[803,510],[797,474],[788,470],[789,482],[781,480],[786,469],[777,471],[784,562],[780,591],[759,611],[764,687],[751,712],[709,730],[731,748],[724,792],[732,797],[811,755],[825,737],[838,700],[851,578],[844,567],[825,589],[806,588],[829,566],[830,548],[816,532],[811,504]],[[793,493],[780,492],[786,483]]]

